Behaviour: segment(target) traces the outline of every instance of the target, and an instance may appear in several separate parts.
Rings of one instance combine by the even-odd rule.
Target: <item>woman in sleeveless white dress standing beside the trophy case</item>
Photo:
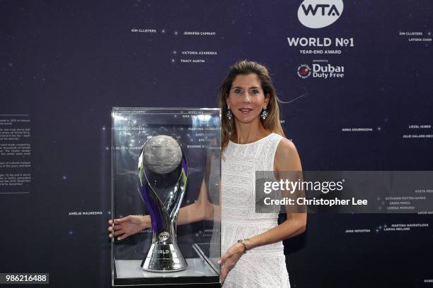
[[[219,91],[221,207],[207,200],[203,182],[197,202],[179,212],[178,224],[221,216],[223,256],[217,262],[224,288],[290,287],[282,240],[305,231],[306,213],[288,212],[281,224],[277,213],[255,213],[256,171],[301,171],[294,144],[284,138],[278,102],[265,66],[254,61],[231,66]],[[129,215],[109,223],[110,236],[120,240],[151,226],[149,216]]]

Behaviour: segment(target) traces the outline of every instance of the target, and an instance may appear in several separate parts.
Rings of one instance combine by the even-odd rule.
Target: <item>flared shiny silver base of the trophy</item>
[[[187,268],[185,258],[175,244],[152,244],[142,268],[150,272],[176,272]]]

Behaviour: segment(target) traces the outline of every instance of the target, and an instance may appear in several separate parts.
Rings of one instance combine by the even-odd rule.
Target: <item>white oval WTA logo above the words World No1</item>
[[[298,19],[305,27],[323,28],[340,18],[342,0],[304,0],[298,9]]]

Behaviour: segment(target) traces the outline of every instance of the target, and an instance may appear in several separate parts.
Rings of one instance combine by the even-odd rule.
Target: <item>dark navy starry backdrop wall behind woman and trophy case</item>
[[[29,114],[32,125],[31,191],[0,197],[0,272],[108,287],[111,107],[216,107],[239,59],[270,68],[304,170],[432,170],[433,139],[402,138],[414,132],[409,125],[433,122],[432,42],[398,35],[432,37],[432,2],[344,1],[342,16],[318,30],[299,23],[300,3],[0,1],[0,114]],[[353,37],[355,46],[303,55],[287,37]],[[180,62],[194,58],[205,63]],[[296,68],[314,59],[345,66],[345,78],[299,78]],[[103,215],[69,216],[77,210]],[[421,286],[433,279],[432,229],[385,233],[383,225],[432,220],[310,215],[306,234],[284,242],[292,287]],[[352,228],[373,233],[344,233]]]

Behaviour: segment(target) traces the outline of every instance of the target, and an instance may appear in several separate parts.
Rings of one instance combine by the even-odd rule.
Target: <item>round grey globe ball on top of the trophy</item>
[[[144,161],[151,172],[156,174],[173,172],[181,160],[180,144],[170,136],[154,136],[144,145]]]

